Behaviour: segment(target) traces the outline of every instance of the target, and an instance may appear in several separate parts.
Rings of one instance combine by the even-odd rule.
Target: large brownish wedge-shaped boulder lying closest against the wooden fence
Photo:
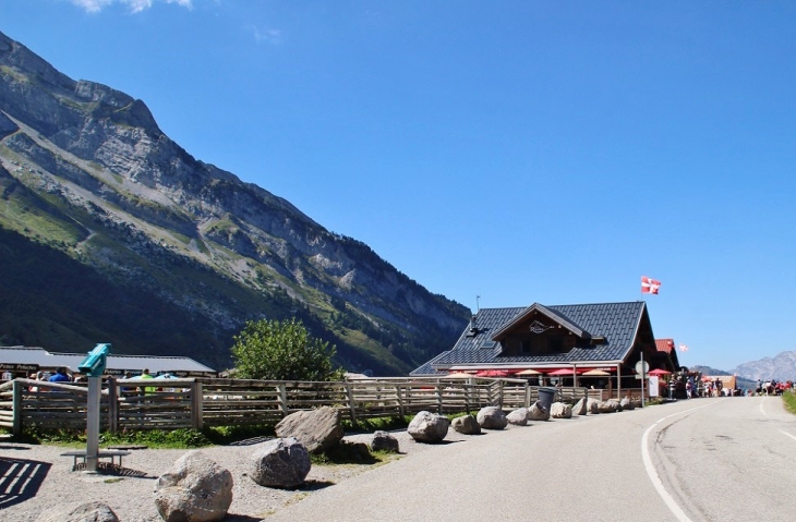
[[[335,408],[296,412],[276,425],[279,438],[294,437],[311,453],[322,453],[331,448],[346,435],[340,423],[340,412]]]

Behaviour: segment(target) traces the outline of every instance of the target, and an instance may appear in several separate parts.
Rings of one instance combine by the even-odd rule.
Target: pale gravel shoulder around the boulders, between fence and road
[[[432,445],[415,442],[406,430],[390,432],[400,445],[398,459],[429,451]],[[371,434],[347,435],[346,440],[370,442]],[[461,434],[448,430],[446,440],[462,440]],[[71,448],[70,448],[71,449]],[[252,522],[276,513],[315,491],[334,487],[347,478],[366,473],[377,464],[313,465],[303,487],[275,489],[257,485],[246,476],[250,456],[257,445],[215,446],[202,451],[228,469],[234,479],[229,522]],[[156,522],[154,495],[158,477],[188,450],[141,449],[124,458],[122,474],[86,474],[72,471],[72,458],[61,457],[68,448],[0,442],[0,519],[9,522],[34,522],[53,507],[76,500],[108,503],[123,522]]]

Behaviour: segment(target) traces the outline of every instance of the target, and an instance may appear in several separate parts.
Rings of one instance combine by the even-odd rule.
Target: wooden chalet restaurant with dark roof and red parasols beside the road
[[[674,344],[672,344],[672,348]],[[659,350],[647,303],[600,303],[483,308],[451,350],[441,353],[412,376],[465,372],[473,376],[524,377],[538,384],[638,388],[636,364],[675,372],[674,350]]]

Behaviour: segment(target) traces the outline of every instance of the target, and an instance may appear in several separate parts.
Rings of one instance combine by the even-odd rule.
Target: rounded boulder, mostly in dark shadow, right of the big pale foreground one
[[[304,484],[312,462],[310,452],[294,437],[268,440],[250,459],[249,476],[261,486],[297,487]]]

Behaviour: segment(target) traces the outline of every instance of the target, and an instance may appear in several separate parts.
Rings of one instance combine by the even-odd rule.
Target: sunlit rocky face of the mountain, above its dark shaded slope
[[[143,101],[2,34],[0,190],[5,229],[203,317],[219,343],[246,319],[299,315],[349,366],[406,372],[469,317],[365,244],[194,159]]]

